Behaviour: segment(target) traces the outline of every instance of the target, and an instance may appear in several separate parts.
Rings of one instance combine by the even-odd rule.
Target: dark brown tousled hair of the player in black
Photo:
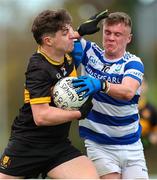
[[[71,22],[70,14],[64,9],[57,11],[45,10],[35,18],[31,31],[36,42],[42,44],[44,34],[55,34],[63,29],[66,24],[71,24]]]

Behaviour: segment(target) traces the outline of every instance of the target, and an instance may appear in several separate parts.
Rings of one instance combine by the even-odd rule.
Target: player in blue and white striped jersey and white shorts
[[[79,123],[80,136],[100,178],[148,179],[138,111],[144,65],[126,50],[132,40],[131,18],[114,12],[103,20],[103,49],[79,36],[91,34],[86,27],[93,25],[87,21],[78,28],[72,52],[81,68],[73,84],[80,87],[78,93],[93,96],[92,111]]]

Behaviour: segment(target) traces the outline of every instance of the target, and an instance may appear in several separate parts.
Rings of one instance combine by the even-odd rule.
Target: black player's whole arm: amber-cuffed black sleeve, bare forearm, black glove
[[[87,102],[86,107],[80,108],[78,111],[68,111],[50,106],[51,87],[54,82],[52,82],[53,78],[47,68],[36,54],[31,58],[26,72],[27,94],[25,96],[27,101],[25,103],[29,103],[31,106],[35,124],[37,126],[59,125],[86,116],[90,111],[90,102],[89,104]]]

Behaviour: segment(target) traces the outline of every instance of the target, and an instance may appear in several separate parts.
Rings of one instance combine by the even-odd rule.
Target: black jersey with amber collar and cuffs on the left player
[[[30,58],[25,76],[24,105],[12,125],[11,138],[42,143],[58,142],[67,138],[70,122],[55,126],[36,126],[31,104],[49,103],[55,106],[51,88],[63,77],[76,76],[72,57],[66,54],[59,64],[38,50]]]

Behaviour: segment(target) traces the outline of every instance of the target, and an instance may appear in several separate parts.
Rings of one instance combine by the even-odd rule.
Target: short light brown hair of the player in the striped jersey
[[[132,21],[128,14],[124,12],[110,13],[109,16],[104,20],[104,24],[113,25],[118,23],[124,23],[125,26],[132,28]]]

